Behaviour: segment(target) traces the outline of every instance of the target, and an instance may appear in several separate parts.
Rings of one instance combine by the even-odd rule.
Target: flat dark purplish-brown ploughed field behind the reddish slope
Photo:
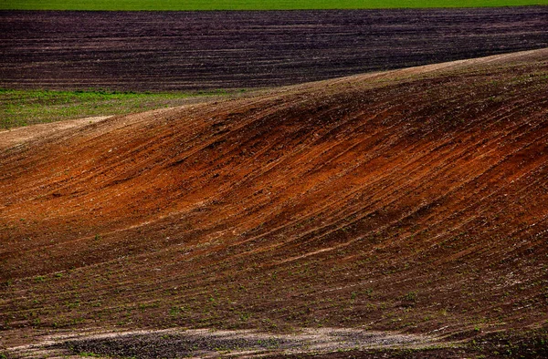
[[[548,46],[548,6],[0,12],[0,87],[272,87]]]

